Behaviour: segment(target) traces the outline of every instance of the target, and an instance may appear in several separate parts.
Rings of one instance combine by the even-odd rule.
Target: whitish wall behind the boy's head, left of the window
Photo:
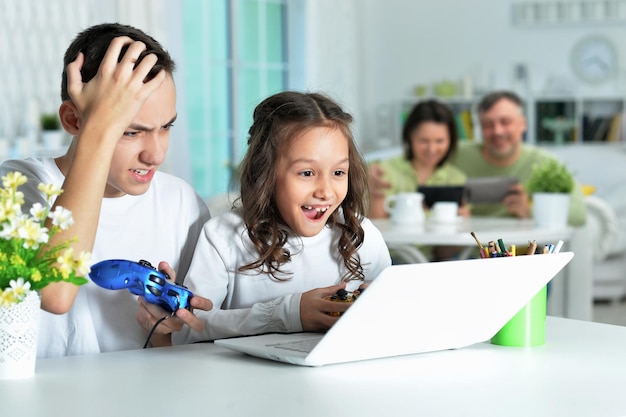
[[[63,54],[78,32],[96,23],[130,24],[145,30],[174,54],[181,48],[179,40],[170,36],[174,32],[168,23],[176,20],[171,16],[178,5],[166,0],[2,0],[0,161],[48,154],[32,137],[32,129],[36,134],[40,112],[56,112],[61,103]],[[177,56],[174,59],[179,61]],[[182,103],[182,87],[178,95]],[[186,141],[182,140],[186,132],[181,126],[184,120],[176,127],[163,169],[189,179],[188,164],[174,163],[186,161],[188,155]],[[50,152],[60,153],[58,149]]]

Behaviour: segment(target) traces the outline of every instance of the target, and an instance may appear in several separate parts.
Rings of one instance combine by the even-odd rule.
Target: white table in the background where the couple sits
[[[564,249],[574,252],[574,259],[552,280],[548,313],[554,316],[591,320],[593,311],[592,259],[587,248],[586,228],[538,228],[532,219],[470,217],[454,224],[437,224],[427,220],[422,224],[396,225],[390,220],[373,220],[390,249],[412,262],[427,261],[415,245],[465,246],[465,255],[477,251],[471,236],[473,231],[483,245],[502,239],[509,247],[526,248],[529,240],[544,244],[565,242]]]

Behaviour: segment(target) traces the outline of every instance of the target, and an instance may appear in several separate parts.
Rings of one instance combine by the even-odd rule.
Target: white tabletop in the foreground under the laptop
[[[626,328],[548,317],[546,343],[303,368],[213,344],[39,360],[3,416],[623,416]]]

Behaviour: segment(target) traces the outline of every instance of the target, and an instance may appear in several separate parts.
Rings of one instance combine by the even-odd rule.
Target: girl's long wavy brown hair
[[[348,140],[348,193],[341,210],[331,214],[328,225],[341,229],[337,250],[348,272],[343,279],[363,279],[357,249],[363,243],[361,227],[367,212],[367,169],[359,153],[350,123],[352,116],[330,98],[316,93],[282,92],[262,101],[254,110],[248,150],[240,167],[241,203],[248,236],[259,253],[255,262],[239,269],[261,270],[274,279],[291,254],[283,246],[293,231],[282,220],[274,191],[277,163],[291,143],[316,127],[338,129]]]

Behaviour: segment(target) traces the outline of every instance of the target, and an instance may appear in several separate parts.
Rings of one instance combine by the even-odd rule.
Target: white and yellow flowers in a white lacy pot
[[[53,282],[87,283],[84,277],[91,264],[90,253],[75,256],[71,241],[47,245],[50,237],[74,223],[72,213],[63,207],[50,210],[62,190],[45,184],[38,189],[45,194],[46,205],[33,204],[24,213],[24,194],[18,188],[27,180],[12,172],[2,177],[0,189],[0,378],[6,376],[3,367],[34,372],[39,290]],[[23,357],[32,359],[32,370],[18,363]],[[11,377],[13,371],[7,373]]]

